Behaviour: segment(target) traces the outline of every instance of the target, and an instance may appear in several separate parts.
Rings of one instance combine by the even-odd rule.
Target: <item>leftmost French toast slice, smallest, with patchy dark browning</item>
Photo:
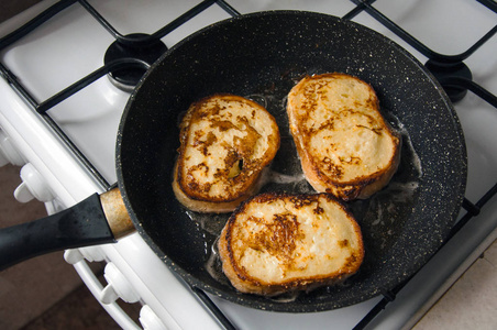
[[[180,123],[173,189],[198,212],[229,212],[256,194],[263,169],[279,147],[279,131],[265,108],[234,95],[190,106]]]

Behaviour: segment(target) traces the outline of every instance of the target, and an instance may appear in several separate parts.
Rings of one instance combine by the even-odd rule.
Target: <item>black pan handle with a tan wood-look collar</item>
[[[119,188],[95,194],[62,212],[0,229],[0,271],[54,251],[112,243],[133,230]]]

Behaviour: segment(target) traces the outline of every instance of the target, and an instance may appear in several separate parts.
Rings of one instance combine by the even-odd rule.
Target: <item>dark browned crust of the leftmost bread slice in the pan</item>
[[[243,143],[236,147],[232,147],[232,155],[225,160],[225,164],[241,158],[243,161],[243,168],[239,175],[231,178],[227,177],[225,174],[220,175],[219,180],[225,180],[227,185],[233,187],[232,189],[225,191],[227,194],[222,196],[209,195],[208,185],[202,185],[202,183],[191,179],[188,175],[185,175],[183,170],[179,170],[179,168],[185,168],[185,152],[188,136],[191,134],[191,123],[200,120],[201,114],[198,113],[199,109],[201,109],[207,101],[213,99],[243,102],[253,108],[253,111],[264,111],[270,121],[269,125],[273,130],[273,134],[269,135],[268,147],[262,158],[251,158],[252,151],[244,146]],[[211,109],[209,109],[209,111]],[[217,110],[213,109],[212,111]],[[220,122],[217,124],[221,125],[223,123]],[[250,122],[246,124],[250,127]],[[229,212],[240,205],[240,202],[256,194],[261,187],[263,169],[270,164],[277,150],[279,148],[279,130],[276,124],[276,120],[264,107],[240,96],[217,94],[192,103],[185,114],[179,128],[180,146],[178,148],[178,157],[175,164],[173,188],[177,199],[183,205],[199,212]],[[227,168],[228,166],[229,165],[227,165]]]

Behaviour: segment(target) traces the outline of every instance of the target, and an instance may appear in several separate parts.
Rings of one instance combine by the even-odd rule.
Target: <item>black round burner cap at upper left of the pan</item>
[[[167,46],[161,40],[151,40],[144,43],[143,40],[148,36],[148,34],[144,33],[133,33],[125,35],[125,37],[128,40],[136,40],[136,43],[113,42],[106,52],[103,63],[107,65],[115,59],[136,58],[152,65],[167,51]],[[124,91],[131,91],[144,73],[144,68],[130,65],[130,67],[112,70],[108,76],[114,86]]]

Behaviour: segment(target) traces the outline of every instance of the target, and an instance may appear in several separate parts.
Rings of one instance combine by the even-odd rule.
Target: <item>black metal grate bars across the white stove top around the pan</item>
[[[476,50],[478,50],[482,45],[484,45],[490,37],[493,37],[497,33],[497,25],[490,29],[482,38],[475,41],[475,43],[465,52],[455,55],[444,55],[437,53],[429,47],[427,47],[422,42],[415,38],[407,31],[402,30],[395,22],[389,20],[386,15],[384,15],[380,11],[373,7],[375,0],[351,0],[355,7],[345,15],[342,16],[344,20],[352,20],[361,12],[366,12],[376,21],[385,25],[396,35],[398,35],[401,40],[411,45],[415,50],[419,51],[421,54],[427,56],[429,61],[426,66],[429,68],[433,75],[439,79],[442,87],[445,89],[448,95],[450,96],[453,102],[456,102],[464,98],[466,92],[470,90],[477,97],[482,98],[486,102],[488,102],[492,107],[497,110],[497,97],[490,94],[488,90],[477,85],[472,80],[472,75],[470,68],[464,64],[464,61],[467,59]],[[497,13],[497,3],[492,0],[475,0],[483,6],[485,6],[488,10]],[[21,40],[23,36],[29,34],[31,31],[42,25],[44,22],[53,18],[54,15],[62,12],[64,9],[78,3],[82,8],[85,8],[98,23],[100,23],[120,44],[129,44],[135,43],[135,37],[130,37],[129,35],[123,35],[119,31],[117,31],[95,8],[92,8],[86,0],[63,0],[51,8],[46,9],[43,13],[15,30],[14,32],[8,34],[7,36],[0,38],[0,51],[4,50],[9,45],[14,42]],[[201,1],[198,6],[191,8],[167,25],[157,30],[152,35],[145,35],[139,37],[139,43],[146,43],[150,40],[158,40],[168,33],[175,31],[177,28],[181,26],[184,23],[188,22],[190,19],[195,18],[197,14],[201,13],[206,9],[211,6],[219,6],[223,9],[229,15],[236,16],[240,13],[232,8],[224,0],[205,0]],[[33,111],[38,112],[43,120],[53,129],[54,133],[57,134],[60,140],[67,145],[67,147],[76,155],[76,157],[80,161],[80,163],[95,176],[95,179],[99,182],[102,187],[106,189],[111,188],[110,185],[103,176],[97,170],[97,168],[89,162],[85,155],[78,150],[78,147],[70,141],[70,139],[63,132],[63,130],[55,123],[55,121],[49,117],[48,110],[54,106],[63,102],[68,97],[77,94],[79,90],[84,89],[88,85],[95,82],[100,79],[102,76],[108,75],[109,73],[126,69],[126,68],[137,68],[141,70],[146,70],[150,67],[150,63],[143,59],[133,59],[133,58],[118,58],[113,61],[109,61],[102,67],[97,70],[90,73],[86,77],[79,79],[75,84],[66,87],[60,90],[56,95],[44,101],[36,101],[35,98],[31,95],[31,92],[22,85],[22,82],[5,67],[2,63],[0,63],[0,75],[15,89],[26,101],[27,105],[31,106]],[[472,202],[468,199],[464,198],[463,208],[466,213],[463,218],[454,226],[451,231],[450,238],[448,241],[457,233],[473,217],[476,217],[481,209],[487,204],[495,195],[497,194],[497,183],[479,198],[476,202]],[[373,309],[356,324],[354,329],[364,329],[367,324],[369,324],[373,319],[378,316],[383,309],[390,302],[394,301],[396,295],[405,287],[405,285],[409,282],[400,284],[396,288],[383,293],[383,299],[375,306]],[[200,300],[205,302],[205,305],[211,310],[213,316],[219,320],[219,322],[225,329],[235,329],[235,327],[228,320],[228,318],[221,312],[221,310],[216,306],[216,304],[209,298],[209,296],[197,287],[192,287],[192,290],[199,297]]]

